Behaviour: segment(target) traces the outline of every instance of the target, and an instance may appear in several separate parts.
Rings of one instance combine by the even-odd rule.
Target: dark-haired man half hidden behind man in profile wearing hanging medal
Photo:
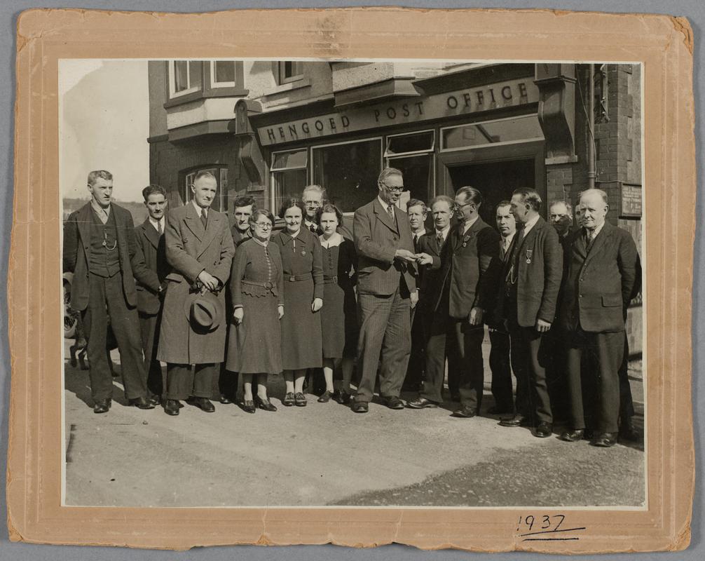
[[[508,200],[501,201],[495,210],[495,222],[499,231],[499,258],[502,267],[507,263],[511,253],[512,242],[517,233],[517,221],[510,212]],[[492,371],[491,391],[494,406],[487,410],[489,414],[511,414],[514,411],[512,393],[512,368],[510,363],[509,332],[504,319],[498,317],[496,309],[488,315],[486,323],[489,331],[489,368]]]

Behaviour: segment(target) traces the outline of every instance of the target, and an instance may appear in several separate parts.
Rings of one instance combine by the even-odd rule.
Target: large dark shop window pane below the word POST
[[[343,212],[355,212],[376,197],[381,138],[316,146],[312,155],[312,183],[324,186],[328,200]]]

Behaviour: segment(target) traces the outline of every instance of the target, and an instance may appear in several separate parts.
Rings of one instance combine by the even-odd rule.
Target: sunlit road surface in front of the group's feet
[[[118,367],[119,368],[119,367]],[[634,378],[637,378],[635,375]],[[632,380],[635,394],[641,382]],[[66,502],[106,506],[641,505],[639,445],[598,449],[534,438],[497,418],[448,409],[353,414],[309,396],[305,408],[247,414],[216,404],[178,417],[90,408],[87,372],[66,365]],[[283,382],[271,384],[280,405]],[[405,396],[403,396],[405,397]],[[407,398],[412,397],[407,395]],[[491,396],[486,395],[486,405]],[[641,413],[643,408],[639,406]],[[637,421],[641,417],[637,416]],[[609,473],[607,483],[598,481]]]

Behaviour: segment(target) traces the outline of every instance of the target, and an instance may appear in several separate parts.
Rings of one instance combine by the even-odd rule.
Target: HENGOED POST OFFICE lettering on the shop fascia
[[[433,95],[419,101],[399,101],[298,119],[257,129],[263,146],[321,138],[367,128],[502,109],[539,101],[539,88],[525,79],[482,88]]]

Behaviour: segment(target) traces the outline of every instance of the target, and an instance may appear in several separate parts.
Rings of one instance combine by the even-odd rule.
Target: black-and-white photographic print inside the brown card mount
[[[59,60],[62,505],[646,509],[642,102],[641,64]]]

